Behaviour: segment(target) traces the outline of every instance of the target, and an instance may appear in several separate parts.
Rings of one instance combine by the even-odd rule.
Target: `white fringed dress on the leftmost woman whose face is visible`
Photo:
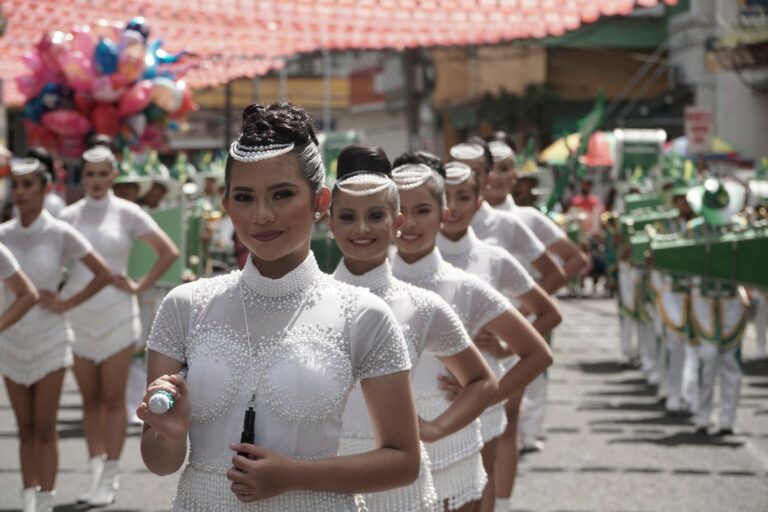
[[[0,225],[0,243],[16,256],[21,269],[40,291],[56,292],[66,264],[93,249],[75,228],[43,210],[27,227],[19,219]],[[14,300],[3,289],[3,303]],[[4,306],[7,307],[7,306]],[[0,373],[24,386],[72,364],[74,333],[67,314],[35,305],[0,333]]]

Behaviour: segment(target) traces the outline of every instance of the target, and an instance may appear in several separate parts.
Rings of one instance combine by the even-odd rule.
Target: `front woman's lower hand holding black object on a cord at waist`
[[[232,457],[233,467],[227,471],[237,499],[251,503],[291,490],[293,459],[248,443],[233,443],[229,447],[237,453],[247,454],[247,457]]]

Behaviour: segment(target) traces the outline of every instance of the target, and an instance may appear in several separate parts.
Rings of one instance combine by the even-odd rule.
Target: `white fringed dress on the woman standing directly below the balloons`
[[[134,241],[160,228],[138,205],[115,197],[110,190],[102,199],[86,196],[68,206],[61,219],[80,231],[104,258],[112,274],[124,274]],[[93,278],[78,262],[62,290],[64,297],[77,293]],[[141,336],[139,303],[135,295],[115,286],[96,295],[70,312],[75,330],[73,350],[96,364],[134,344]]]

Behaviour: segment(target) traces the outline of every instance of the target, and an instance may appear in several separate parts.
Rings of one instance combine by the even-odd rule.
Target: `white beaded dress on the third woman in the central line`
[[[451,305],[470,336],[512,307],[499,292],[477,277],[446,263],[435,250],[416,263],[395,256],[392,273],[398,279],[431,290]],[[419,416],[432,421],[450,405],[438,387],[437,377],[446,371],[432,354],[425,352],[413,370],[413,388]],[[481,498],[487,482],[480,450],[483,447],[480,421],[427,445],[432,479],[438,497],[451,509]]]

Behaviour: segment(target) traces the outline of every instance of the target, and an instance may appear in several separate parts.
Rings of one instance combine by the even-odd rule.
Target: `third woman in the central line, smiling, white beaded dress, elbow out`
[[[445,216],[444,179],[438,171],[424,164],[407,164],[395,168],[392,177],[405,215],[396,242],[393,274],[440,295],[471,336],[491,332],[506,343],[504,356],[514,353],[520,357],[520,362],[499,381],[492,403],[501,403],[544,371],[552,363],[552,355],[542,337],[503,295],[443,260],[435,246]],[[416,403],[424,419],[437,416],[450,403],[438,388],[438,377],[444,371],[437,360],[428,356],[422,357],[416,367]],[[480,454],[479,423],[427,445],[435,488],[449,510],[474,510],[478,505],[473,502],[483,495],[487,477]]]

